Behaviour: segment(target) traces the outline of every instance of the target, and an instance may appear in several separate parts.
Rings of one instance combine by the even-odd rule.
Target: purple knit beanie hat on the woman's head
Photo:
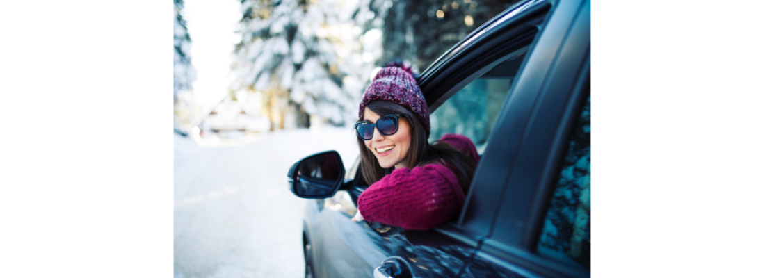
[[[359,104],[359,117],[364,114],[366,105],[376,100],[394,102],[415,113],[425,128],[425,138],[430,137],[428,103],[425,102],[425,95],[422,95],[411,67],[401,62],[386,63],[366,88]]]

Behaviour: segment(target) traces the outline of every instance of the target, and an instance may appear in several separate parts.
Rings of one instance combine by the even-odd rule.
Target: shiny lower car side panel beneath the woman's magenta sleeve
[[[304,221],[317,277],[371,276],[382,260],[394,255],[409,260],[417,277],[454,276],[475,251],[474,246],[439,231],[370,227],[363,221],[350,221],[350,215],[339,210],[322,207],[323,200],[309,201]]]

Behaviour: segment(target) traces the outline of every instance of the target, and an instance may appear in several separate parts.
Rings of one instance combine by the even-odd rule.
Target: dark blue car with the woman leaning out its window
[[[288,170],[314,199],[305,275],[591,276],[590,80],[589,0],[519,2],[478,27],[418,76],[431,143],[463,134],[480,154],[458,217],[428,231],[352,221],[360,160],[311,155]]]

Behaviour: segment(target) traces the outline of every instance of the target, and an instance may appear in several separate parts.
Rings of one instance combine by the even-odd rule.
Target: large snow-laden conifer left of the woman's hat
[[[278,128],[355,121],[373,59],[363,59],[354,8],[350,1],[243,0],[233,89],[261,92],[263,114]]]

